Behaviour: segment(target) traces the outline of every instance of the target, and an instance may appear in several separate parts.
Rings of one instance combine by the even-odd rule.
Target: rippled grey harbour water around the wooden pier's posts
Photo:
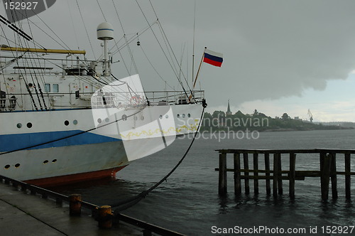
[[[102,186],[71,189],[65,193],[82,193],[84,200],[97,205],[109,205],[117,200],[133,196],[163,178],[180,160],[190,139],[177,139],[158,154],[131,163],[117,173],[118,181]],[[146,220],[187,235],[214,235],[212,226],[218,228],[259,227],[305,228],[355,225],[355,205],[345,200],[344,178],[338,179],[339,198],[322,202],[319,178],[296,181],[295,200],[288,197],[288,183],[283,184],[284,195],[278,198],[266,196],[264,181],[260,181],[260,193],[241,198],[234,196],[233,175],[229,173],[229,194],[218,195],[218,154],[215,149],[355,149],[355,130],[310,131],[310,132],[264,132],[258,139],[197,139],[190,154],[173,173],[147,198],[124,214]],[[338,161],[338,171],[343,161]],[[355,168],[354,161],[351,168]],[[287,163],[285,163],[287,165]],[[232,166],[229,163],[229,166]],[[318,156],[297,156],[298,169],[319,169]],[[352,180],[354,183],[354,178]],[[242,183],[244,186],[244,183]],[[355,198],[355,184],[352,186]],[[331,197],[331,194],[329,194]],[[315,231],[313,231],[315,232]],[[231,233],[215,235],[232,235]],[[244,234],[246,235],[246,234]],[[259,232],[258,235],[273,235]],[[301,234],[298,234],[301,235]],[[349,235],[349,234],[348,234]],[[351,235],[355,235],[355,229]]]

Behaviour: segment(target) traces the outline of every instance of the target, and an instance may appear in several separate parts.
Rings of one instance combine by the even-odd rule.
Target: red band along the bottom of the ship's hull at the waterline
[[[116,173],[126,166],[120,166],[118,168],[110,168],[102,171],[92,171],[87,173],[75,173],[67,176],[55,176],[49,178],[37,178],[28,181],[23,181],[35,186],[40,186],[43,188],[53,187],[53,186],[65,186],[73,183],[80,183],[84,181],[94,181],[99,179],[116,179]]]

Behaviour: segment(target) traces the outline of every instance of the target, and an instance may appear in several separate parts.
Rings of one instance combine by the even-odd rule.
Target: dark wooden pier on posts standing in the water
[[[319,177],[322,200],[327,200],[329,195],[329,181],[332,181],[332,198],[338,198],[337,176],[345,176],[345,197],[351,198],[351,155],[355,150],[338,149],[285,149],[285,150],[249,150],[249,149],[219,149],[219,195],[226,195],[226,173],[234,172],[234,193],[241,195],[241,180],[244,180],[245,193],[250,193],[249,181],[253,180],[254,194],[259,193],[259,180],[266,181],[266,194],[271,195],[271,181],[273,182],[273,196],[283,195],[283,181],[288,181],[288,191],[291,199],[295,198],[295,181],[305,180],[305,177]],[[227,154],[233,154],[234,168],[227,168]],[[250,154],[250,155],[249,155]],[[319,156],[320,168],[318,170],[296,170],[296,156],[312,154]],[[249,169],[249,156],[253,156],[253,169]],[[243,168],[241,168],[241,156]],[[271,169],[271,156],[273,168]],[[287,169],[283,163],[287,162]],[[264,168],[259,168],[263,160]],[[343,161],[343,163],[341,162]],[[344,171],[338,171],[338,166],[344,166]],[[243,175],[242,175],[243,173]],[[251,175],[252,174],[252,175]]]

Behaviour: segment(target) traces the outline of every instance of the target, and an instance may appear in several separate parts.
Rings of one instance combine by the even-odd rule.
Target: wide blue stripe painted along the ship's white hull
[[[99,144],[110,141],[119,141],[120,139],[114,139],[108,136],[102,136],[99,134],[92,134],[89,132],[81,133],[81,130],[70,131],[57,131],[57,132],[40,132],[40,133],[28,133],[28,134],[4,134],[0,135],[0,152],[14,151],[18,149],[25,149],[30,146],[47,143],[57,139],[62,139],[67,136],[71,136],[67,139],[50,142],[40,146],[35,146],[31,149],[47,149],[50,147],[59,146],[74,146],[84,144]],[[74,134],[78,134],[72,136]],[[26,149],[29,150],[29,149]]]

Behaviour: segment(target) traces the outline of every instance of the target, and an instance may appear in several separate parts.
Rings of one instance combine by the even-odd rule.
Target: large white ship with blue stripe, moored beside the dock
[[[26,33],[26,18],[7,15],[0,19],[0,175],[43,187],[115,178],[131,161],[197,132],[204,92],[148,92],[138,74],[115,75],[110,23],[97,26],[102,56],[88,60],[85,50],[47,48]]]

